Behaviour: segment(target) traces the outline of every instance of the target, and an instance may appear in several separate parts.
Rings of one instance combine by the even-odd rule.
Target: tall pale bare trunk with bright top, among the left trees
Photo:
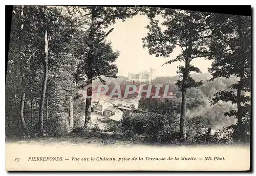
[[[48,36],[45,32],[45,58],[42,61],[45,67],[44,80],[42,82],[41,100],[39,105],[39,131],[42,133],[44,128],[44,102],[46,96],[46,85],[48,80]]]

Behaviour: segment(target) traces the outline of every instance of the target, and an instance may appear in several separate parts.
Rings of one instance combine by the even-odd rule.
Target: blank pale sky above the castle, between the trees
[[[174,62],[163,66],[162,64],[176,58],[181,52],[179,47],[176,47],[168,58],[155,57],[148,54],[147,48],[142,48],[141,38],[147,35],[145,27],[148,24],[149,19],[146,16],[137,15],[124,22],[117,20],[116,24],[109,27],[109,29],[114,28],[114,30],[106,39],[112,41],[114,51],[120,51],[120,55],[116,60],[118,76],[127,76],[129,72],[149,71],[151,67],[156,70],[156,76],[177,75],[177,66],[183,64],[183,62]],[[204,58],[196,58],[191,63],[199,67],[202,73],[206,73],[210,68],[211,61]]]

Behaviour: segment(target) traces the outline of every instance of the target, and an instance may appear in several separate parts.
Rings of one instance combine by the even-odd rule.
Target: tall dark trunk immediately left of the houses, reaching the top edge
[[[88,54],[88,67],[89,72],[87,74],[87,84],[90,85],[93,82],[93,66],[92,66],[92,60],[93,60],[93,52],[94,50],[94,21],[95,21],[95,7],[92,7],[92,21],[91,21],[91,27],[90,27],[90,45],[89,45],[89,54]],[[92,96],[92,87],[89,87],[87,89],[87,95]],[[86,98],[86,118],[84,119],[84,127],[87,127],[87,123],[91,120],[91,104],[92,104],[92,98]]]

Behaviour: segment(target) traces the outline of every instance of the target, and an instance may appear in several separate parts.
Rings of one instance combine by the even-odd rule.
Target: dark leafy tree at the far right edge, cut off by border
[[[211,57],[212,74],[210,80],[218,77],[230,78],[232,75],[240,78],[239,81],[230,86],[232,91],[219,91],[215,94],[211,103],[218,101],[231,101],[237,104],[237,111],[231,110],[225,115],[236,116],[237,133],[236,141],[243,140],[245,128],[243,118],[250,118],[250,96],[251,92],[251,18],[239,15],[215,14],[212,18]],[[221,27],[219,27],[221,26]]]

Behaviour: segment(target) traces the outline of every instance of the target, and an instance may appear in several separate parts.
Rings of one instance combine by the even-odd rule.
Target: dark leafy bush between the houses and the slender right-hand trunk
[[[178,138],[179,121],[176,113],[124,114],[121,130],[125,135],[143,136],[147,142],[172,143]]]

